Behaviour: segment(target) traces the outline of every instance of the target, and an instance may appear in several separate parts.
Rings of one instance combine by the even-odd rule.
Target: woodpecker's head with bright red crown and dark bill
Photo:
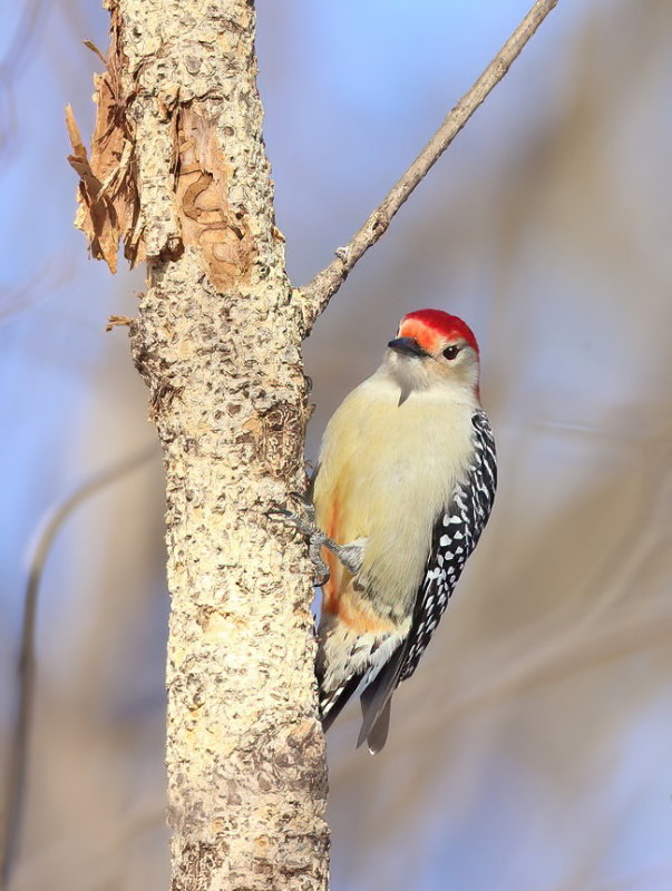
[[[384,373],[401,388],[400,404],[413,391],[451,391],[455,398],[478,393],[478,343],[471,329],[442,310],[418,310],[405,315],[388,343]]]

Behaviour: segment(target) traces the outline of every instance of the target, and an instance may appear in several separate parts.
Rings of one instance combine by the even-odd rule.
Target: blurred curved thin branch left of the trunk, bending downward
[[[21,830],[28,748],[32,724],[32,701],[35,695],[35,630],[37,621],[38,595],[47,558],[57,532],[70,513],[96,492],[130,473],[157,453],[153,444],[126,458],[107,470],[78,486],[64,501],[48,515],[30,558],[28,580],[23,595],[23,619],[21,625],[21,650],[18,663],[17,714],[9,751],[4,817],[0,838],[0,891],[9,884]]]

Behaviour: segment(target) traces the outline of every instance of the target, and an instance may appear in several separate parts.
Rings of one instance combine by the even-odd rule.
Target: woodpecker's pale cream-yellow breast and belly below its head
[[[314,488],[318,522],[340,544],[366,538],[357,582],[381,614],[402,615],[415,598],[434,525],[469,462],[474,411],[431,392],[399,404],[398,390],[370,379],[327,428]]]

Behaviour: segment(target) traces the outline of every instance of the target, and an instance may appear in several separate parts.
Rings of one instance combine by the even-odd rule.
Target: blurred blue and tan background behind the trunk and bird
[[[296,284],[408,166],[529,0],[259,0],[266,143]],[[0,30],[0,741],[37,531],[152,447],[113,278],[71,226],[87,0]],[[500,489],[384,752],[330,736],[338,891],[672,888],[672,3],[561,0],[305,346],[316,411],[437,306],[481,342]],[[160,459],[80,506],[47,565],[12,891],[167,888]]]

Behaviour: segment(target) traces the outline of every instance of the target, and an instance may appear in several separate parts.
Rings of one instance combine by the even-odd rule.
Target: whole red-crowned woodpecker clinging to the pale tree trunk
[[[312,507],[291,517],[323,548],[329,579],[316,674],[328,730],[359,694],[374,754],[490,515],[495,441],[480,407],[479,350],[456,315],[405,315],[378,371],[324,431]]]

